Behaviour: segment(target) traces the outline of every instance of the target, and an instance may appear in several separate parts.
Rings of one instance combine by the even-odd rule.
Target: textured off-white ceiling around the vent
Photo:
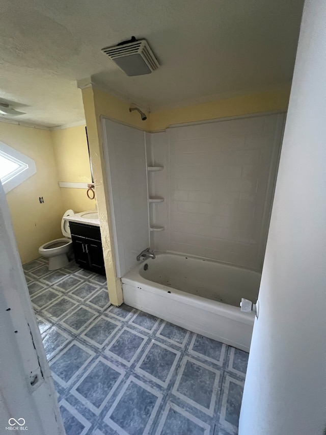
[[[25,122],[84,119],[92,76],[151,109],[292,77],[303,0],[1,0],[0,102]],[[100,49],[146,38],[161,66],[128,77]]]

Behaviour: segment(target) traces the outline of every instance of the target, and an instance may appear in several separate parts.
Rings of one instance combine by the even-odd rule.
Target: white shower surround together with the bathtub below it
[[[103,120],[126,303],[249,351],[254,314],[240,312],[239,302],[258,297],[284,117],[160,133]],[[140,264],[137,255],[148,246],[158,255]]]

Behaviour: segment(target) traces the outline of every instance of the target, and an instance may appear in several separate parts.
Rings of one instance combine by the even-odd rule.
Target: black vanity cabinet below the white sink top
[[[100,228],[69,222],[76,263],[83,269],[105,275]]]

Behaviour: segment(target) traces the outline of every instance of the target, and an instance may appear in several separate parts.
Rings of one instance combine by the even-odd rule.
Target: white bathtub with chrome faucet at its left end
[[[127,305],[249,352],[261,274],[191,255],[155,252],[121,278]]]

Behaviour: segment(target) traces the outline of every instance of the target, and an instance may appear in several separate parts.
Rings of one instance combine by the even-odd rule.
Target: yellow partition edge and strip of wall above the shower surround
[[[82,90],[95,179],[97,208],[100,217],[108,292],[113,304],[120,305],[123,302],[123,297],[121,282],[120,279],[116,277],[115,272],[112,223],[103,157],[101,115],[145,131],[154,132],[165,130],[169,125],[183,122],[202,121],[267,111],[286,111],[289,93],[290,89],[283,87],[274,91],[238,95],[200,105],[157,111],[148,115],[146,121],[142,121],[138,113],[129,113],[129,103],[126,101],[122,101],[95,87]]]

